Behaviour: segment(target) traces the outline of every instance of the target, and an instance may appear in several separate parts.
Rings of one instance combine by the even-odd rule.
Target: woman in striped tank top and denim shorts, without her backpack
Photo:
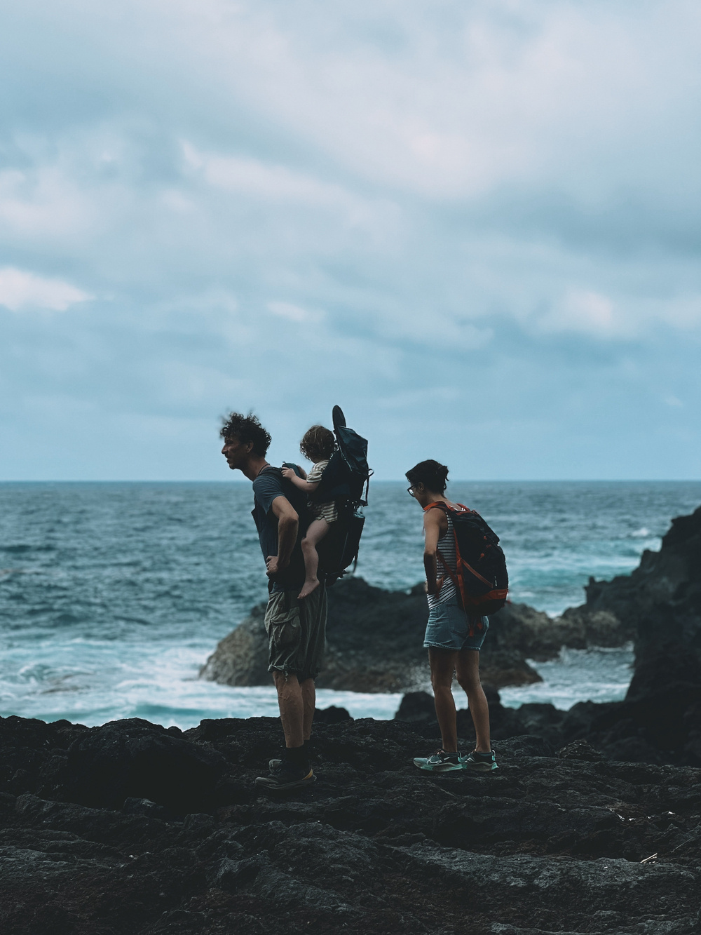
[[[432,756],[414,760],[421,770],[496,770],[489,731],[489,706],[479,681],[479,650],[489,627],[487,617],[469,619],[462,608],[457,582],[455,537],[450,513],[464,508],[445,496],[448,468],[422,461],[407,471],[408,493],[423,509],[423,567],[426,572],[428,624],[423,645],[428,649],[431,684],[436,701],[441,747]],[[459,754],[452,675],[465,691],[477,741],[470,753]]]

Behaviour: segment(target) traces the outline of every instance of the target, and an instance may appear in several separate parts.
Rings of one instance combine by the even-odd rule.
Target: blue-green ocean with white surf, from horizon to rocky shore
[[[422,514],[404,482],[374,482],[356,574],[389,589],[422,579]],[[449,495],[501,536],[510,597],[551,615],[590,575],[630,572],[701,482],[453,482]],[[142,717],[194,726],[277,714],[272,687],[200,681],[199,667],[250,607],[265,567],[250,484],[0,483],[0,714],[86,725]],[[625,694],[632,650],[565,651],[505,704]],[[319,707],[393,717],[400,696],[319,693]],[[464,700],[458,696],[462,705]]]

